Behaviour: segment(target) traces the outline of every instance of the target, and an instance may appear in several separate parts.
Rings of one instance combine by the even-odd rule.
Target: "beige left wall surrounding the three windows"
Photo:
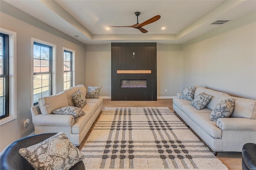
[[[16,16],[16,17],[14,17]],[[19,18],[19,19],[17,19]],[[34,25],[22,21],[32,21]],[[28,136],[34,132],[32,116],[30,112],[32,96],[33,69],[31,51],[32,38],[56,45],[56,92],[63,89],[63,49],[73,49],[75,56],[75,84],[86,84],[85,75],[85,45],[74,38],[59,32],[58,30],[36,20],[32,16],[21,12],[6,2],[1,1],[0,27],[16,32],[17,34],[17,119],[0,126],[0,151],[11,142]],[[45,31],[47,30],[47,31]],[[23,122],[30,119],[30,124],[24,128]]]

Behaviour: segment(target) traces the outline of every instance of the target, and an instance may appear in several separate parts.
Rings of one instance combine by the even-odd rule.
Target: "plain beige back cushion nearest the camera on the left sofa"
[[[42,115],[52,114],[56,109],[68,106],[68,98],[66,93],[58,93],[48,97],[40,97],[38,105]]]

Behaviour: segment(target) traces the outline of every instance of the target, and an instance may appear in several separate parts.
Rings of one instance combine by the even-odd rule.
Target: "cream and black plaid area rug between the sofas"
[[[168,107],[104,108],[82,154],[86,170],[228,169]]]

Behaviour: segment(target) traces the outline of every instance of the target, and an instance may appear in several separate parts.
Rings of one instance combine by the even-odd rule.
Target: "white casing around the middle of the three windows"
[[[31,38],[31,107],[34,106],[34,42],[52,47],[52,95],[56,95],[56,47],[57,45],[36,38]]]

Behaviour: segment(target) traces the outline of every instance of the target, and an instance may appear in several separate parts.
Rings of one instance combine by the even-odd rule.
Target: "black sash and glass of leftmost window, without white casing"
[[[0,119],[9,116],[9,36],[0,33]]]

